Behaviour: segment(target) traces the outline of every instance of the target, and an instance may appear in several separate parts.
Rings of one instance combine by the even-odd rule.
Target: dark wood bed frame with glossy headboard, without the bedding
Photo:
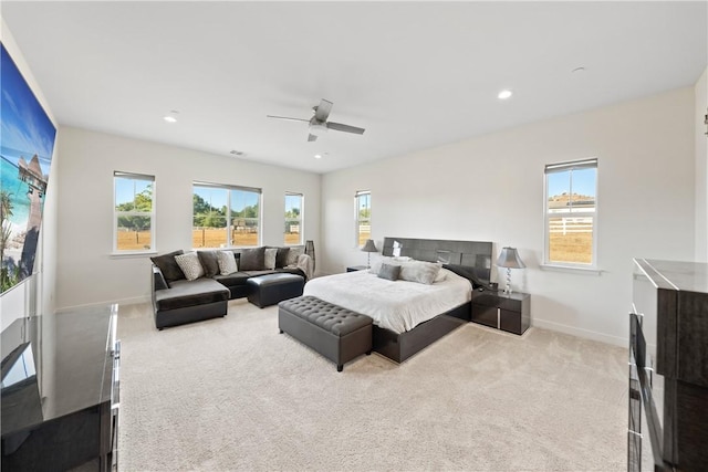
[[[487,241],[449,241],[409,238],[384,238],[383,255],[408,255],[418,261],[442,262],[444,266],[467,276],[473,285],[489,284],[492,243]],[[374,325],[374,350],[395,363],[414,354],[470,321],[470,303],[437,315],[405,333],[394,333]]]

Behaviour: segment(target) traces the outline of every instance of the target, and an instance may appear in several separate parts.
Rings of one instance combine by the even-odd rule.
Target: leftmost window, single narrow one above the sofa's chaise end
[[[155,177],[113,172],[113,252],[153,250]]]

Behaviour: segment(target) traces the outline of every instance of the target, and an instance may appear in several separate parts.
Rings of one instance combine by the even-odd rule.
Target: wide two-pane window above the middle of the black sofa
[[[261,189],[195,182],[192,247],[260,245]]]

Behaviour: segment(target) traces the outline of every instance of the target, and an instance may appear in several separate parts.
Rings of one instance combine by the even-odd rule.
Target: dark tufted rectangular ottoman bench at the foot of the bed
[[[336,364],[372,353],[372,318],[314,296],[278,304],[278,327]]]

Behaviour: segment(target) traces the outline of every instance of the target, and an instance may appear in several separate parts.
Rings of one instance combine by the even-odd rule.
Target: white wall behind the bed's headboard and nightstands
[[[365,263],[353,199],[368,189],[379,248],[384,237],[517,247],[528,268],[512,285],[532,294],[532,325],[624,346],[632,258],[694,256],[694,106],[681,88],[325,175],[323,270]],[[542,271],[544,165],[586,157],[598,158],[603,273]]]

